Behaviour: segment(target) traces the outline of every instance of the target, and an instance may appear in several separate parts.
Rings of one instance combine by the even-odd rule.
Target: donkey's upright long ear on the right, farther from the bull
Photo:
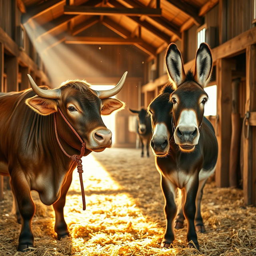
[[[194,79],[203,87],[210,80],[212,72],[212,53],[206,43],[200,44],[196,52],[196,67]]]

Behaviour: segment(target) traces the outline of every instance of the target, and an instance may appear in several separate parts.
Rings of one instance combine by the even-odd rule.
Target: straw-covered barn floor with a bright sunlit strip
[[[159,249],[165,228],[164,200],[154,157],[139,150],[112,148],[83,159],[87,209],[82,211],[78,174],[68,192],[66,222],[72,237],[56,240],[52,207],[40,203],[32,221],[33,252],[16,252],[20,225],[10,214],[12,195],[0,202],[0,256],[235,256],[256,255],[256,208],[244,206],[242,191],[206,184],[198,234],[200,252],[186,248],[186,226],[176,230],[175,247]]]

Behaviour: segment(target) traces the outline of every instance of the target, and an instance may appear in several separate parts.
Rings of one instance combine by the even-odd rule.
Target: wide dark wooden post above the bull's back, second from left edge
[[[18,90],[18,59],[8,56],[6,62],[7,92]]]

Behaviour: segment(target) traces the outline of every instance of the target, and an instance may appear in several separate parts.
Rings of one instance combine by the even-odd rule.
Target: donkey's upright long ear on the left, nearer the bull
[[[176,44],[171,43],[168,46],[165,62],[169,80],[173,84],[174,89],[176,89],[186,78],[181,54]]]

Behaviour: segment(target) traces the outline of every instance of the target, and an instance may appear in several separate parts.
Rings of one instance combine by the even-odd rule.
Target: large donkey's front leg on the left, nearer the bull
[[[177,212],[175,204],[175,186],[164,178],[164,176],[161,177],[161,186],[165,198],[164,212],[166,217],[166,230],[160,248],[168,248],[172,246],[174,241],[173,221]]]

